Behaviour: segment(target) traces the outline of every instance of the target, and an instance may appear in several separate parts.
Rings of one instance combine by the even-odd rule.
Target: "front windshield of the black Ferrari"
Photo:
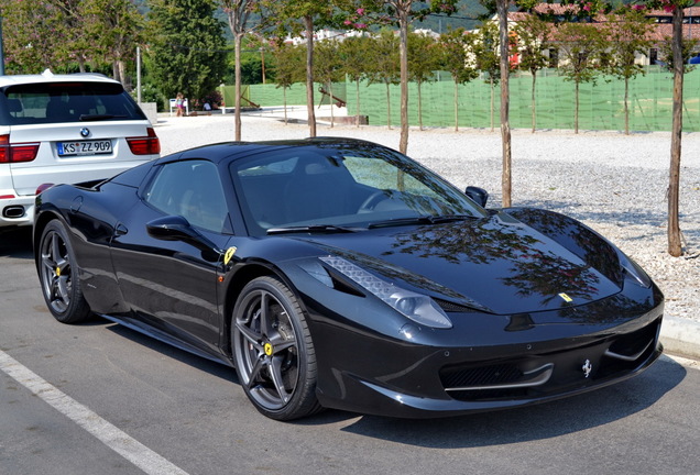
[[[485,216],[414,161],[376,145],[287,147],[233,162],[248,230],[347,232]]]

